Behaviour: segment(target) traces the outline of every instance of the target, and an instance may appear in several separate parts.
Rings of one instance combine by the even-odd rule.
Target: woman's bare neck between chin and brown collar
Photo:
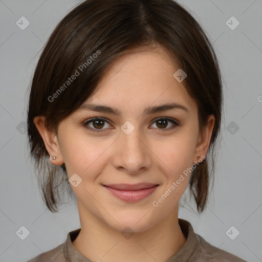
[[[120,231],[96,217],[80,214],[81,231],[74,248],[91,261],[166,261],[186,242],[179,223],[178,207],[164,221],[143,232],[123,237]]]

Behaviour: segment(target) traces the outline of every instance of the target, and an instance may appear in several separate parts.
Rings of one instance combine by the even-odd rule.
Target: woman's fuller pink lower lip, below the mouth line
[[[146,189],[136,190],[136,191],[124,191],[124,190],[117,190],[111,187],[104,186],[107,190],[109,190],[115,197],[119,198],[120,200],[126,202],[136,202],[140,201],[148,195],[152,194],[158,185]]]

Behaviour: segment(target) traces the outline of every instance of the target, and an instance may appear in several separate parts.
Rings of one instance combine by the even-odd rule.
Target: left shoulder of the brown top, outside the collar
[[[41,253],[38,256],[28,260],[27,262],[67,262],[63,252],[63,244],[51,249],[45,253]]]

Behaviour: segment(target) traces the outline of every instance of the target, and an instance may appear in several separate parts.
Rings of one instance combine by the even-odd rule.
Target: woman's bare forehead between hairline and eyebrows
[[[197,104],[183,82],[173,77],[178,69],[163,48],[129,52],[111,63],[95,94],[85,103],[106,104],[134,113],[149,105],[173,102],[195,110]]]

